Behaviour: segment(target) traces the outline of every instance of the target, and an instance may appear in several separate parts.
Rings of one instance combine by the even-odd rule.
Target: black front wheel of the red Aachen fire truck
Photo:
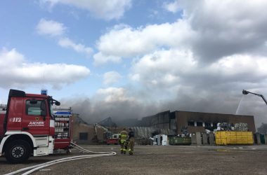
[[[13,164],[22,163],[30,158],[32,148],[27,141],[16,140],[11,141],[6,146],[5,157],[8,162]]]

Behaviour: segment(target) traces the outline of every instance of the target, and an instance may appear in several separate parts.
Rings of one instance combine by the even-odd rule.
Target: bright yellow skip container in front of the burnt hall
[[[252,132],[219,131],[215,134],[216,145],[254,144]]]

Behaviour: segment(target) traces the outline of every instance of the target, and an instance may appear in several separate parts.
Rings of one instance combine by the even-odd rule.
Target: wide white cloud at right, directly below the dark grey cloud
[[[131,80],[151,90],[177,90],[177,87],[235,87],[266,80],[267,57],[233,55],[213,64],[200,64],[190,51],[161,50],[133,63]],[[262,83],[262,82],[261,82]]]

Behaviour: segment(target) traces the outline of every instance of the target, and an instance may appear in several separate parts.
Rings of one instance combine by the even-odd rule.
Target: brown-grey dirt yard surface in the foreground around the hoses
[[[33,174],[267,174],[267,145],[135,146],[132,156],[121,155],[119,146],[81,146],[90,151],[115,151],[117,155],[60,163]],[[0,174],[75,155],[84,153],[72,150],[70,155],[32,157],[19,165],[0,158]]]

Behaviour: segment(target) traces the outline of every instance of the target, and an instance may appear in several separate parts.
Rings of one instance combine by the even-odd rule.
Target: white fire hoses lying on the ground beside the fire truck
[[[45,162],[45,163],[42,163],[42,164],[39,164],[39,165],[34,165],[34,166],[31,166],[31,167],[25,167],[25,168],[22,168],[22,169],[18,169],[15,172],[11,172],[11,173],[8,173],[6,175],[18,174],[18,173],[25,172],[25,171],[27,171],[27,172],[23,173],[22,175],[27,175],[27,174],[31,174],[33,172],[36,172],[37,170],[42,169],[44,167],[49,167],[51,165],[56,165],[56,164],[62,163],[62,162],[70,162],[70,161],[73,161],[73,160],[82,160],[82,159],[86,159],[86,158],[98,158],[98,157],[116,155],[117,154],[115,152],[89,151],[89,150],[86,150],[85,148],[82,148],[81,146],[78,146],[77,144],[72,143],[72,142],[71,142],[70,146],[72,148],[76,148],[79,151],[82,151],[83,153],[96,153],[96,155],[78,155],[78,156],[72,156],[72,157],[68,157],[68,158],[61,158],[61,159],[58,159],[58,160],[52,160],[50,162]]]

